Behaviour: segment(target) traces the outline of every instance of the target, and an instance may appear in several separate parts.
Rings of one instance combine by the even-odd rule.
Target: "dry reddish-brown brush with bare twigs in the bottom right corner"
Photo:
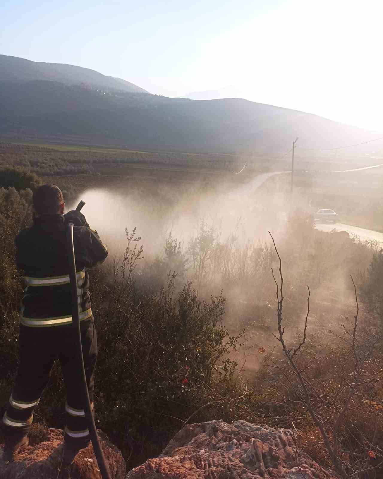
[[[282,314],[282,259],[276,246],[275,251],[279,260],[277,277],[272,271],[278,305],[278,333],[275,339],[281,344],[283,354],[277,360],[270,358],[269,366],[274,368],[274,372],[266,370],[266,375],[262,377],[267,385],[263,393],[264,404],[278,411],[279,422],[282,416],[285,421],[289,419],[294,430],[294,422],[302,426],[302,430],[306,429],[306,434],[311,433],[311,437],[317,436],[315,432],[319,430],[322,440],[306,445],[322,443],[322,450],[327,452],[325,457],[341,477],[369,476],[371,471],[375,473],[379,468],[371,462],[377,456],[383,457],[378,434],[383,419],[380,399],[383,356],[379,348],[382,344],[379,329],[371,322],[360,327],[357,291],[351,277],[356,312],[349,324],[342,325],[343,334],[338,336],[338,342],[327,348],[321,345],[322,349],[318,349],[316,345],[307,349],[308,288],[302,337],[297,343],[287,346]],[[366,422],[367,427],[363,425]]]

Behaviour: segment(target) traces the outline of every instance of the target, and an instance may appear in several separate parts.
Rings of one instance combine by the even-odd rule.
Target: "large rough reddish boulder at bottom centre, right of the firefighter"
[[[288,429],[245,421],[185,426],[163,453],[131,470],[126,479],[332,479],[297,450]]]

